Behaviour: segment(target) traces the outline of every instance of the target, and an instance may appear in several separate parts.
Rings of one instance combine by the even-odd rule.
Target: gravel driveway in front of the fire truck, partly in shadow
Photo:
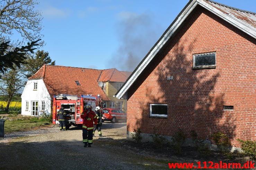
[[[167,164],[152,163],[147,155],[129,147],[115,147],[115,142],[126,138],[125,122],[105,122],[102,133],[104,137],[99,138],[96,131],[91,148],[83,147],[82,130],[73,126],[68,131],[48,125],[6,134],[0,138],[0,169],[168,169]]]

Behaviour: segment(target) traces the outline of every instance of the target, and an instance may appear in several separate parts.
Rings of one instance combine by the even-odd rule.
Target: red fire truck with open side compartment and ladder
[[[83,124],[83,119],[80,118],[80,115],[83,112],[84,106],[86,106],[86,104],[91,104],[92,111],[95,111],[96,106],[101,106],[101,98],[99,95],[72,96],[68,94],[59,94],[54,96],[52,123],[59,124],[59,122],[56,120],[56,113],[60,110],[61,107],[63,107],[66,113],[66,128],[68,129],[71,125],[81,126]]]

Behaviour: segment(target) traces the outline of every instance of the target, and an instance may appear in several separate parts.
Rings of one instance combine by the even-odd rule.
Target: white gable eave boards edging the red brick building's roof
[[[204,0],[193,0],[188,2],[188,4],[184,7],[184,9],[179,13],[173,23],[171,23],[170,27],[165,31],[162,37],[158,40],[158,42],[152,47],[149,53],[144,57],[141,63],[137,66],[131,76],[126,80],[123,86],[117,91],[116,98],[121,99],[124,93],[132,86],[134,81],[139,77],[141,72],[148,66],[150,61],[156,56],[156,54],[160,51],[160,49],[164,46],[164,44],[169,40],[169,38],[175,33],[175,31],[179,28],[179,26],[183,23],[183,21],[188,17],[188,15],[193,11],[193,9],[199,4],[203,8],[213,12],[220,18],[229,22],[233,26],[238,29],[244,31],[250,36],[256,38],[256,30],[253,26],[242,22],[235,17],[231,17],[228,14],[221,12],[220,10],[214,8],[210,4],[206,3]]]

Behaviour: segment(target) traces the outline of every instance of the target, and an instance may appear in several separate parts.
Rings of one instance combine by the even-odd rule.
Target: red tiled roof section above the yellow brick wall
[[[125,82],[132,72],[118,71],[117,69],[103,70],[99,81]]]

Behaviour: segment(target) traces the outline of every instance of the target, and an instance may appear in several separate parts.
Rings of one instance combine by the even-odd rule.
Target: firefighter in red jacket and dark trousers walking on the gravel
[[[81,118],[83,119],[83,147],[91,147],[92,132],[94,127],[97,126],[97,117],[94,111],[91,110],[91,105],[87,104],[86,109],[82,112]]]

